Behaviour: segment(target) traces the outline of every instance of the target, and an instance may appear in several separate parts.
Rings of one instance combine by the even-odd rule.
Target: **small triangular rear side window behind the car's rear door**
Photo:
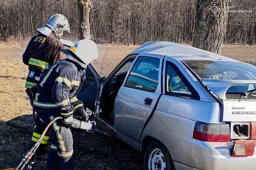
[[[166,62],[166,93],[173,96],[191,97],[199,99],[199,94],[190,85],[178,67],[171,62]]]

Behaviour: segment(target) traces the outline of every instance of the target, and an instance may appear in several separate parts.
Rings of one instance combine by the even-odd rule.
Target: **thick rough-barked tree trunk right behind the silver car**
[[[193,47],[204,49],[214,53],[221,53],[221,44],[227,26],[228,0],[219,0],[219,11],[213,14],[212,0],[198,0],[196,4],[195,34]]]

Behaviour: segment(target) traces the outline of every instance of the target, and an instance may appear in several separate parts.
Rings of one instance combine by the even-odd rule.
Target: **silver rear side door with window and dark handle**
[[[135,148],[161,94],[160,63],[158,55],[139,55],[115,100],[117,136]]]

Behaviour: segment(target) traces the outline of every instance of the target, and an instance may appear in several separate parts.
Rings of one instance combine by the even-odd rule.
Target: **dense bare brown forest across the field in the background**
[[[229,7],[223,43],[256,44],[256,1],[231,0]],[[97,43],[191,42],[195,8],[196,0],[91,0],[90,35]],[[0,0],[0,39],[29,39],[56,13],[69,20],[66,38],[77,40],[77,0]]]

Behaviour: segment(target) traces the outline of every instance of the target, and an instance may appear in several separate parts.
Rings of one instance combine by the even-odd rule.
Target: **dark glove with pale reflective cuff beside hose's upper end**
[[[73,123],[73,114],[74,114],[74,106],[73,105],[67,105],[60,109],[60,115],[63,117],[63,126],[69,128],[72,126]]]

